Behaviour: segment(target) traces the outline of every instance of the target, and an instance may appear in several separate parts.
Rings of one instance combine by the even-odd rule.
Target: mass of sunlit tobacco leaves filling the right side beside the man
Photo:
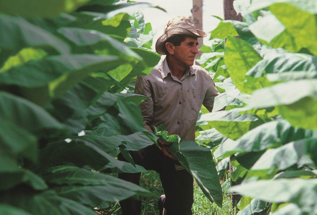
[[[220,177],[233,166],[238,215],[317,214],[316,1],[234,6],[243,22],[222,20],[202,47],[222,93],[202,109],[197,142],[212,148]]]

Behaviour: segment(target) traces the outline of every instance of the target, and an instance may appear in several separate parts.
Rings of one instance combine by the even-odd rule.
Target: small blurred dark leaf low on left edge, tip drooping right
[[[26,184],[34,190],[45,190],[48,186],[44,180],[35,173],[19,168],[16,171],[0,172],[1,184],[0,190],[10,190],[16,185]]]

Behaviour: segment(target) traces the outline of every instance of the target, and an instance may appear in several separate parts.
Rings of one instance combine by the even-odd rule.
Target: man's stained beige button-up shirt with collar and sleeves
[[[138,76],[136,94],[149,97],[140,108],[145,128],[166,124],[168,134],[177,134],[184,140],[195,141],[195,128],[202,104],[212,111],[215,97],[219,95],[208,72],[193,65],[178,80],[171,75],[166,58],[151,73]]]

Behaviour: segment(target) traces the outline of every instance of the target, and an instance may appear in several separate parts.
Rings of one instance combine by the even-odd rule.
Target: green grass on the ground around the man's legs
[[[157,215],[157,201],[164,190],[159,179],[159,174],[155,171],[143,172],[140,178],[140,186],[148,189],[155,194],[155,197],[142,198],[142,215]],[[226,190],[228,183],[224,183],[223,189]],[[105,210],[107,215],[121,215],[121,208],[118,202],[108,203],[109,207]],[[192,207],[193,215],[230,215],[231,201],[230,195],[224,194],[223,207],[219,208],[215,203],[211,203],[194,182],[194,204]]]

